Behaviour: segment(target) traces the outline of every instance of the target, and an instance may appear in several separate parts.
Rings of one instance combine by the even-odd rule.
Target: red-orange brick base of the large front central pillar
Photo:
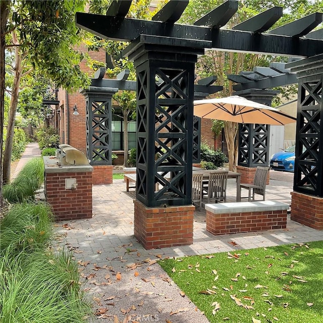
[[[145,249],[193,243],[195,206],[146,207],[134,200],[134,235]]]

